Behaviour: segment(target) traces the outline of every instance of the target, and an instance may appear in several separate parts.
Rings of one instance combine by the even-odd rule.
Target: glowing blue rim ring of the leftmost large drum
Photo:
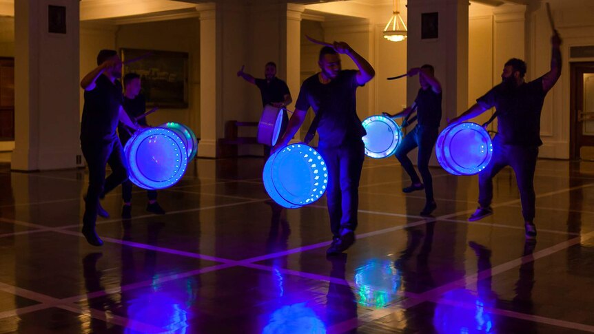
[[[144,174],[140,171],[138,165],[136,164],[136,158],[130,158],[131,156],[136,156],[136,152],[138,152],[139,145],[141,145],[141,143],[145,139],[156,134],[168,136],[170,140],[173,140],[174,143],[177,144],[177,149],[180,151],[180,165],[176,170],[176,173],[173,174],[172,178],[168,179],[167,181],[154,181],[150,180],[149,178],[146,178]],[[143,137],[143,139],[141,141],[138,141],[138,139],[141,138],[141,136]],[[132,175],[132,178],[130,178],[130,180],[132,182],[136,180],[139,183],[134,182],[134,184],[138,185],[139,187],[143,187],[144,189],[166,189],[172,187],[179,180],[181,180],[187,169],[187,155],[181,154],[181,152],[187,152],[187,149],[185,148],[183,139],[180,138],[180,136],[172,129],[168,129],[166,127],[152,127],[150,129],[145,129],[141,132],[136,132],[134,136],[132,136],[132,138],[128,140],[125,147],[125,158],[128,168],[130,169],[128,174]],[[141,178],[138,178],[137,176],[139,175],[142,175],[145,179],[143,180]],[[174,180],[172,181],[172,179]]]

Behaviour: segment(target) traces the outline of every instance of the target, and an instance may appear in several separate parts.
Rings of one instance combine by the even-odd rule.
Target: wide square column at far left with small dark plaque
[[[49,32],[50,6],[65,8],[65,33]],[[14,1],[14,14],[12,169],[80,166],[79,0]]]

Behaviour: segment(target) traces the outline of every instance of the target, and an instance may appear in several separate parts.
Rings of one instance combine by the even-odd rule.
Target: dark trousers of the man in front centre
[[[359,208],[359,180],[365,160],[362,140],[342,143],[338,147],[318,147],[328,167],[326,198],[330,214],[330,230],[334,237],[341,229],[355,231]]]

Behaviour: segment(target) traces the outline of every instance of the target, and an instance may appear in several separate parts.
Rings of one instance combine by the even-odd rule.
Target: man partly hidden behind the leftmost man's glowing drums
[[[136,119],[136,117],[141,116],[146,111],[145,96],[140,94],[140,91],[141,77],[136,73],[127,73],[124,76],[124,99],[122,106],[131,119]],[[148,127],[145,117],[140,118],[138,123],[139,125]],[[131,134],[121,122],[118,125],[118,133],[122,146],[125,146],[130,139]],[[161,205],[158,205],[156,200],[156,190],[147,190],[147,197],[149,202],[146,210],[159,215],[164,215],[165,210],[163,210]],[[132,181],[130,180],[125,180],[122,183],[122,200],[122,218],[130,219],[132,218]]]

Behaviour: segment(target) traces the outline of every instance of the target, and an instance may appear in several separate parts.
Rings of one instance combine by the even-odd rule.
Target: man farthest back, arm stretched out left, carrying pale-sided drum
[[[242,77],[245,81],[252,83],[260,88],[260,95],[262,96],[262,107],[266,105],[272,105],[273,107],[283,108],[283,126],[280,129],[280,134],[285,132],[285,127],[289,122],[289,116],[287,110],[284,109],[287,105],[293,102],[291,98],[291,92],[285,81],[282,81],[276,77],[276,63],[269,61],[264,67],[265,79],[256,79],[254,76],[243,72],[243,66],[241,70],[237,72],[237,76]],[[265,147],[266,156],[269,155],[269,147]]]

